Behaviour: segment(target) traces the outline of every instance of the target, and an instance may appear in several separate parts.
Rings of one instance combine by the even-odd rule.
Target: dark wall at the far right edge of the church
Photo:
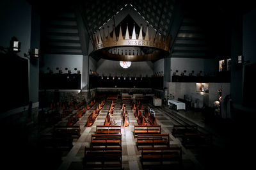
[[[231,27],[231,97],[236,104],[248,106],[248,96],[253,96],[249,90],[250,79],[255,76],[255,69],[250,69],[256,63],[256,10],[245,13],[233,20]],[[243,55],[243,63],[237,65],[237,56]],[[248,65],[248,66],[247,66]],[[253,105],[250,105],[253,106]]]

